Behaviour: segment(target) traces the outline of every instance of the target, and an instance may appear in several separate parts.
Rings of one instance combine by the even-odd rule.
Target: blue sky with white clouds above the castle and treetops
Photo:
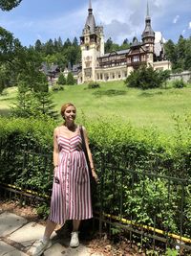
[[[22,45],[45,43],[50,38],[82,35],[90,0],[22,0],[10,12],[0,11],[0,26],[10,31]],[[180,35],[191,35],[191,0],[148,0],[152,28],[164,39],[177,42]],[[96,25],[103,26],[109,37],[121,44],[125,38],[141,39],[147,0],[92,0]]]

